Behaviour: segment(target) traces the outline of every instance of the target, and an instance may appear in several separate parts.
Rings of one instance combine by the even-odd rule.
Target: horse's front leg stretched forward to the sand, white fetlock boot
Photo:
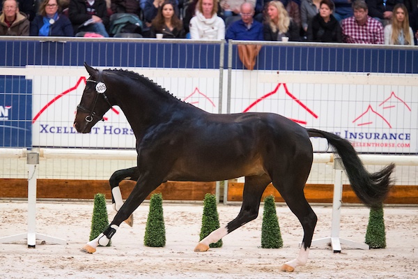
[[[137,185],[135,185],[132,193],[130,193],[126,202],[121,206],[121,209],[118,210],[118,213],[116,213],[116,216],[114,217],[114,220],[111,221],[109,227],[107,227],[107,229],[105,229],[98,237],[92,241],[88,241],[88,243],[86,243],[86,245],[81,249],[82,252],[91,254],[96,251],[98,246],[107,246],[111,237],[114,236],[121,223],[131,216],[135,209],[138,208],[139,204],[144,202],[144,199],[153,190],[155,190],[155,188],[160,186],[161,183],[162,180],[157,180],[155,178],[150,180],[140,177]]]

